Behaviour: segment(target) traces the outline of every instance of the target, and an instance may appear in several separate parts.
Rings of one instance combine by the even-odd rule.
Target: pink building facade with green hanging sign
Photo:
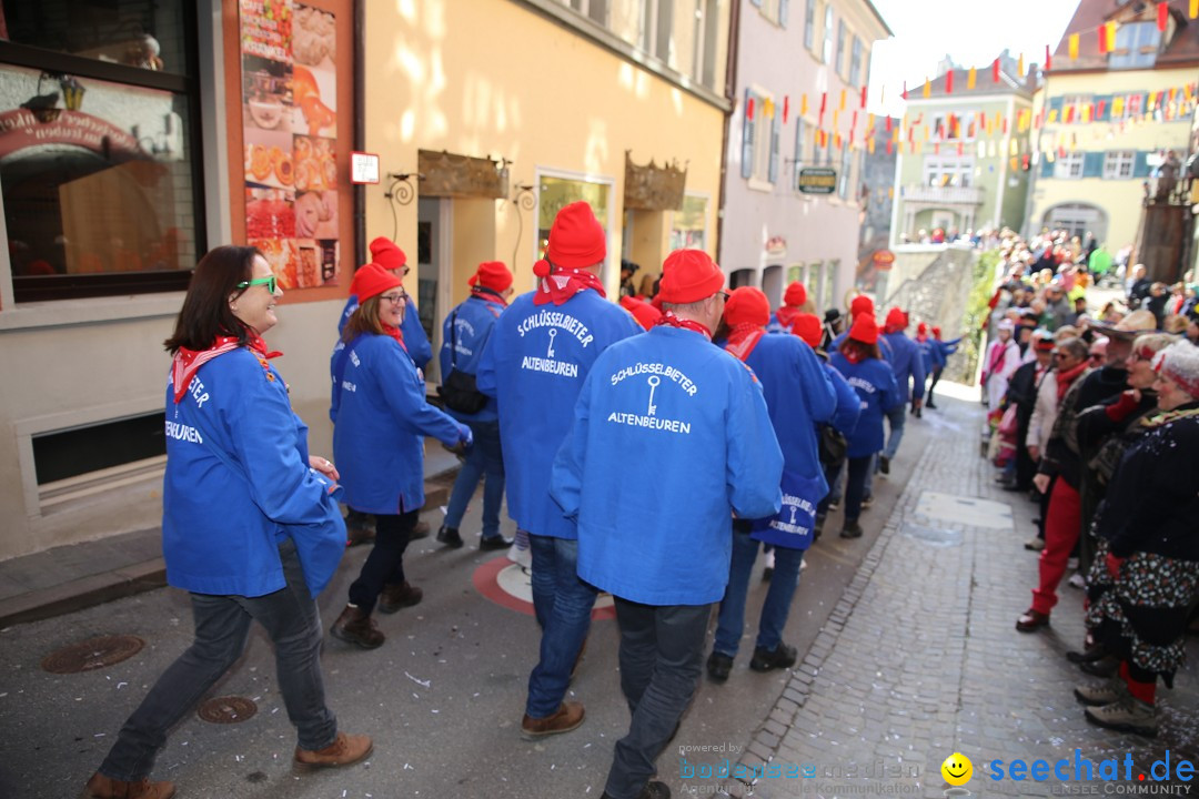
[[[854,285],[863,96],[872,47],[888,36],[869,0],[741,4],[719,260],[772,307],[791,280],[820,309]],[[805,193],[806,181],[829,193]]]

